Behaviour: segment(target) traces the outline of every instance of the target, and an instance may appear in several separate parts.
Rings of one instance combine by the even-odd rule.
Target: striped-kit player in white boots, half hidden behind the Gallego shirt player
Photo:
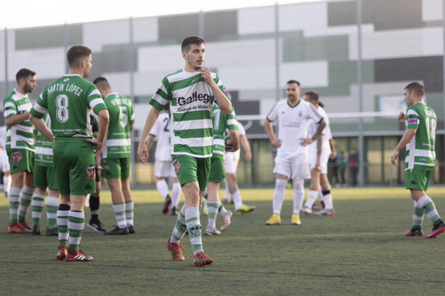
[[[210,161],[210,176],[207,183],[207,209],[209,211],[208,223],[205,230],[207,235],[221,234],[216,228],[216,217],[221,211],[222,225],[224,230],[230,224],[232,213],[225,210],[219,197],[220,183],[224,180],[224,151],[225,151],[225,130],[228,128],[232,147],[227,151],[237,151],[239,149],[238,124],[236,122],[235,110],[228,115],[221,112],[217,104],[212,107],[213,124],[213,155]]]

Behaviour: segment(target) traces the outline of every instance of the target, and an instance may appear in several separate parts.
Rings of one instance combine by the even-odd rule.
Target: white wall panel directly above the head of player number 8
[[[85,23],[83,25],[84,44],[94,51],[102,51],[106,44],[130,42],[130,20],[120,19]]]

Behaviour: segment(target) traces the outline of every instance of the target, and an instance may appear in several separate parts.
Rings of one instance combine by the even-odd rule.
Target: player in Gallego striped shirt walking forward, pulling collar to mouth
[[[181,44],[185,67],[167,75],[153,98],[142,131],[137,157],[145,163],[148,158],[145,140],[164,105],[170,104],[172,136],[170,154],[185,196],[176,227],[167,242],[173,260],[184,260],[179,240],[188,230],[193,249],[193,265],[210,265],[213,260],[202,247],[199,204],[207,186],[210,157],[213,151],[212,102],[216,100],[225,114],[231,103],[220,78],[204,66],[205,46],[199,37],[187,37]]]

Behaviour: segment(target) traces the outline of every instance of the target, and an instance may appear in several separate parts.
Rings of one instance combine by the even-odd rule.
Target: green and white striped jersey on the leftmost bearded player
[[[3,117],[28,112],[32,108],[28,95],[21,94],[14,88],[3,100]],[[29,119],[18,125],[7,126],[6,149],[27,149],[34,151],[33,124]]]

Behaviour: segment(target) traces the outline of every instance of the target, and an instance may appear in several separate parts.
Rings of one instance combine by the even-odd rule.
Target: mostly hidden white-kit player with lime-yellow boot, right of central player
[[[244,149],[244,159],[246,162],[250,162],[252,160],[252,152],[250,150],[249,140],[246,136],[246,130],[239,121],[236,123],[238,124],[239,142]],[[235,206],[235,213],[244,214],[255,210],[255,207],[244,205],[241,199],[241,193],[239,192],[238,183],[236,182],[236,169],[238,168],[239,155],[240,149],[235,152],[225,152],[225,195],[223,203],[227,203],[229,195],[231,195]]]

